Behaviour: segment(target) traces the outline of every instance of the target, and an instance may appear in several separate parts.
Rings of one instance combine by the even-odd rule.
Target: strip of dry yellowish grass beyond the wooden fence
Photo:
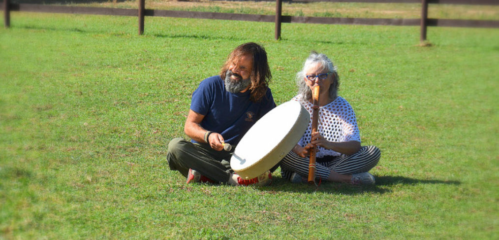
[[[39,0],[22,0],[39,3]],[[45,3],[61,0],[45,0]],[[62,4],[96,7],[137,8],[137,0],[89,1],[66,0]],[[275,14],[275,1],[246,0],[145,0],[146,9],[216,11],[249,14]],[[283,15],[323,16],[323,17],[381,17],[381,18],[420,18],[421,3],[363,3],[363,2],[300,2],[283,1]],[[498,5],[469,4],[430,4],[430,18],[458,18],[498,20]]]

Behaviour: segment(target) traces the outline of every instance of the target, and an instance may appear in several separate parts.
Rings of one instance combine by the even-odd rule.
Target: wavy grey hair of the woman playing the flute
[[[307,86],[305,82],[305,75],[307,70],[314,64],[319,63],[322,69],[328,69],[333,74],[333,81],[329,87],[329,97],[335,99],[338,96],[338,87],[340,85],[340,77],[336,71],[336,66],[333,64],[331,59],[323,53],[317,53],[312,51],[310,55],[305,60],[303,68],[301,71],[296,73],[296,83],[298,84],[298,94],[301,94],[304,99],[312,98],[312,90]]]

